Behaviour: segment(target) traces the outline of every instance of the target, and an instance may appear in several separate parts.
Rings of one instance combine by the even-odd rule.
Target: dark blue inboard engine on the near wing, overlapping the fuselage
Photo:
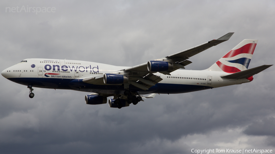
[[[105,84],[123,84],[128,82],[128,77],[120,74],[106,73],[103,76],[103,81]]]

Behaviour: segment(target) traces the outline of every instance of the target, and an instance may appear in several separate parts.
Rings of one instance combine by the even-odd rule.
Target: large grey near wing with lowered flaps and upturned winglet
[[[112,83],[112,84],[124,84],[124,89],[128,89],[130,85],[138,87],[142,90],[148,90],[150,87],[155,86],[156,83],[160,82],[162,78],[160,76],[154,75],[153,73],[160,72],[165,75],[171,75],[170,73],[179,69],[185,68],[184,66],[192,63],[187,60],[190,57],[210,48],[215,45],[218,45],[224,41],[229,40],[233,33],[227,33],[226,35],[218,38],[217,40],[211,40],[206,43],[200,44],[196,47],[189,48],[187,50],[171,54],[167,57],[156,59],[153,61],[148,61],[141,65],[134,67],[126,68],[123,70],[118,70],[112,72],[110,76],[117,77],[120,79],[127,79],[123,83]],[[127,77],[127,78],[123,78]],[[104,80],[107,80],[107,75],[98,76],[98,77],[87,77],[83,79],[83,82],[97,85],[106,84]],[[104,82],[103,82],[104,81]],[[118,80],[119,81],[119,80]]]

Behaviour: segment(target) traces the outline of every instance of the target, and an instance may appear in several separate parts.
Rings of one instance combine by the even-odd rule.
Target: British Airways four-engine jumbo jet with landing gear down
[[[189,58],[224,41],[233,33],[169,56],[133,67],[114,66],[89,61],[31,58],[6,68],[1,75],[27,86],[71,89],[91,94],[86,104],[128,107],[156,94],[177,94],[251,82],[253,75],[272,65],[248,69],[258,40],[245,39],[205,70],[185,70]],[[150,94],[149,96],[143,96]]]

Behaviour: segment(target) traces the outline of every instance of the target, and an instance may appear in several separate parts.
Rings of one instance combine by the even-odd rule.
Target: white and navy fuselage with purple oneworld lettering
[[[1,74],[16,83],[32,85],[40,88],[73,89],[86,92],[121,93],[123,86],[92,85],[79,83],[87,77],[102,76],[129,67],[107,65],[88,61],[59,59],[25,59],[24,61],[5,69]],[[224,79],[222,75],[229,73],[209,70],[184,70],[171,72],[171,75],[155,73],[163,80],[149,88],[137,89],[139,93],[187,93],[192,91],[217,88],[250,82],[248,79]]]

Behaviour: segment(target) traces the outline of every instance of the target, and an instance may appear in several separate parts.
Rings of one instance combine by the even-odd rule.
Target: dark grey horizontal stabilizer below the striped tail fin
[[[252,75],[258,74],[259,72],[262,72],[263,70],[265,70],[266,68],[269,68],[270,66],[272,65],[262,65],[259,67],[247,69],[241,72],[237,72],[237,73],[233,73],[233,74],[225,75],[221,77],[226,79],[245,79],[245,78],[251,77]]]

